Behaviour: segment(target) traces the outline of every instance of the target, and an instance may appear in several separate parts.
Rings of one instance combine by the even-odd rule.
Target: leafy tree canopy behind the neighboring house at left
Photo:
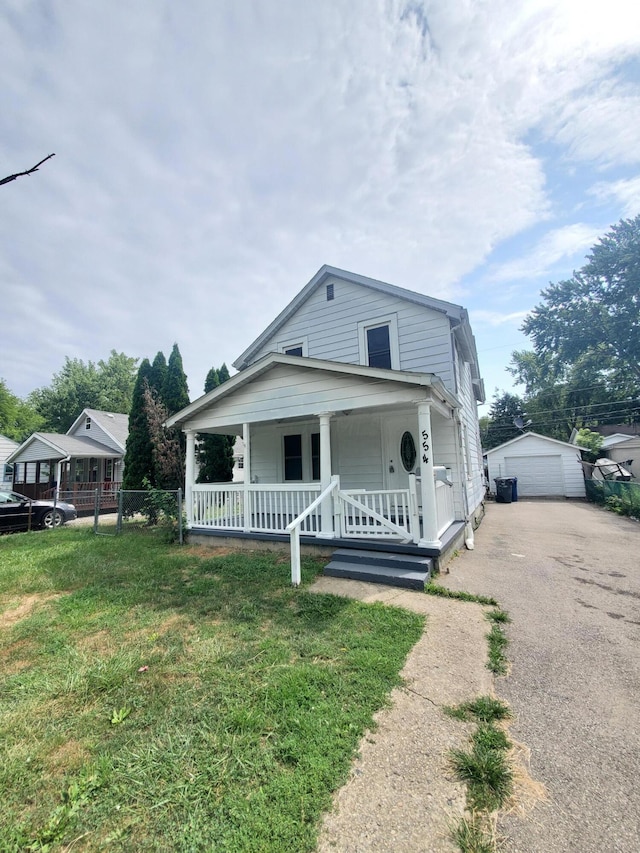
[[[111,350],[97,364],[68,356],[51,385],[33,391],[29,404],[42,418],[41,429],[66,432],[85,408],[126,414],[131,406],[138,359]]]

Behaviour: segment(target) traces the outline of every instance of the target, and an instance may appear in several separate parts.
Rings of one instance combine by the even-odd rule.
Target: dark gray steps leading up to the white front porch
[[[334,551],[323,574],[423,590],[431,576],[432,566],[430,557],[341,548]]]

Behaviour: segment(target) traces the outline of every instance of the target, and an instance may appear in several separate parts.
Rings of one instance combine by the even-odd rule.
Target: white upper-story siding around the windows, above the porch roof
[[[380,317],[395,315],[399,369],[435,373],[454,391],[451,332],[445,314],[342,279],[335,279],[334,292],[335,298],[327,301],[325,288],[318,288],[254,354],[252,363],[306,337],[310,358],[360,364],[358,324],[372,325]]]

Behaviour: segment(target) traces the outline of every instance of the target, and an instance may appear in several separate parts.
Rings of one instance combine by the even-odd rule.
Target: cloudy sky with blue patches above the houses
[[[640,213],[631,0],[3,0],[0,57],[19,396],[177,342],[193,399],[327,263],[464,305],[491,398]]]

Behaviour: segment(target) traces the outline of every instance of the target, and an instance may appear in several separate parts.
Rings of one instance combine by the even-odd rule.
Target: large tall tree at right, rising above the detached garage
[[[640,215],[622,219],[591,249],[572,278],[550,284],[525,319],[536,354],[554,376],[581,357],[633,377],[640,389]]]

